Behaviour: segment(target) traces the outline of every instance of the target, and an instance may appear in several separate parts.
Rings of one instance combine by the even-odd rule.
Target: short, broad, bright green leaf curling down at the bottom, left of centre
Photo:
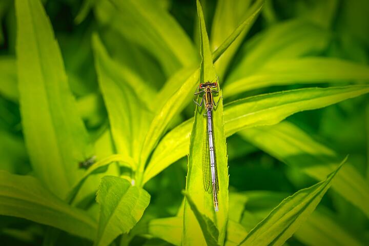
[[[128,233],[144,214],[150,195],[145,190],[131,186],[119,177],[101,179],[96,201],[100,204],[100,219],[94,245],[108,245],[118,235]]]

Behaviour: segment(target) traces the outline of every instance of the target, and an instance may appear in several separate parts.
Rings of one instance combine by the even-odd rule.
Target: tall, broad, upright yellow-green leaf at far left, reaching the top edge
[[[63,59],[42,4],[17,0],[17,66],[23,132],[33,171],[65,197],[92,154],[69,90]]]

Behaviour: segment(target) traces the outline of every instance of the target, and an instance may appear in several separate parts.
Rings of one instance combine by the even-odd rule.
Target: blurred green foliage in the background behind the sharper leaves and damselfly
[[[98,84],[91,43],[93,33],[98,33],[117,64],[139,75],[148,88],[145,90],[160,91],[177,71],[198,66],[200,63],[195,1],[149,1],[148,8],[153,5],[173,17],[172,21],[178,25],[173,31],[174,36],[177,29],[181,30],[180,35],[188,36],[188,44],[183,44],[180,38],[176,43],[173,38],[170,45],[163,43],[160,38],[155,39],[160,31],[153,31],[151,26],[142,28],[147,19],[141,19],[135,10],[117,8],[114,1],[42,2],[60,47],[68,83],[76,98],[77,111],[94,147],[93,151],[87,149],[76,158],[75,167],[78,162],[92,155],[99,160],[119,152],[111,137],[111,122],[109,123],[108,110]],[[201,1],[213,50],[244,19],[244,13],[253,2]],[[145,4],[147,1],[138,1],[138,5],[144,10]],[[224,103],[284,90],[367,83],[368,13],[367,0],[266,1],[250,30],[239,40],[234,54],[215,64]],[[0,169],[13,174],[33,176],[35,173],[29,149],[25,145],[19,108],[16,21],[13,0],[1,0]],[[157,25],[160,27],[160,24],[158,22]],[[170,30],[170,25],[171,23],[168,24],[169,27],[165,27],[166,31]],[[191,49],[193,52],[188,52]],[[325,58],[330,58],[329,62]],[[249,78],[250,84],[243,89],[232,87],[241,78]],[[267,82],[261,85],[260,81]],[[146,97],[145,93],[141,96]],[[317,182],[311,175],[301,172],[301,169],[306,165],[324,163],[324,153],[333,153],[332,156],[337,161],[349,154],[347,165],[365,180],[366,187],[362,187],[360,180],[357,182],[357,189],[364,190],[364,193],[368,191],[368,100],[367,95],[364,95],[322,109],[299,112],[274,128],[261,127],[228,137],[230,218],[237,220],[244,230],[250,231],[285,197]],[[168,131],[193,117],[193,112],[194,106],[188,103],[170,122]],[[297,140],[283,138],[280,136],[282,133],[289,133],[292,138],[296,136]],[[294,156],[295,152],[298,154]],[[330,161],[325,163],[329,164]],[[52,169],[53,163],[49,164]],[[114,175],[116,169],[117,167],[110,167],[108,173]],[[127,170],[122,170],[121,173],[122,176],[127,173],[127,176],[131,175]],[[151,179],[145,185],[151,201],[144,217],[133,228],[127,241],[117,239],[114,241],[115,245],[174,243],[168,241],[166,236],[155,235],[147,224],[153,219],[176,216],[183,200],[181,191],[186,187],[186,175],[187,156]],[[98,216],[98,206],[94,202],[94,194],[100,177],[96,175],[87,181],[86,186],[90,189],[86,188],[88,191],[79,194],[79,203],[74,204],[87,210],[95,218]],[[70,187],[66,188],[68,189]],[[366,203],[366,198],[362,198],[362,203],[366,204],[365,214],[365,208],[359,209],[355,202],[353,204],[332,189],[329,190],[317,210],[286,243],[368,245],[369,203]],[[66,232],[58,231],[55,236],[48,230],[50,228],[41,223],[1,215],[0,244],[91,244],[86,239]],[[53,237],[55,240],[50,239]]]

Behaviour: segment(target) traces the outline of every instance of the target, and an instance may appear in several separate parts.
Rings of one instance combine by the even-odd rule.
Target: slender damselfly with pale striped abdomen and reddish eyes
[[[218,88],[218,81],[215,83],[207,81],[206,83],[200,84],[195,92],[195,95],[202,94],[200,104],[198,104],[196,100],[194,101],[199,107],[204,104],[207,111],[206,114],[204,114],[207,116],[207,132],[204,134],[202,147],[202,179],[204,190],[213,193],[214,209],[215,212],[218,212],[219,183],[215,158],[212,112],[213,109],[216,109],[221,97],[219,97],[217,103],[215,103],[213,93],[217,94],[219,91],[214,88]],[[212,189],[210,189],[210,184]]]

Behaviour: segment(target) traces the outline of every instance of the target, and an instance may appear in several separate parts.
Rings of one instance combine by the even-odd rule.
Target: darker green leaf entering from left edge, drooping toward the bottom
[[[46,224],[93,240],[97,223],[82,210],[70,207],[36,178],[0,171],[0,214]]]

